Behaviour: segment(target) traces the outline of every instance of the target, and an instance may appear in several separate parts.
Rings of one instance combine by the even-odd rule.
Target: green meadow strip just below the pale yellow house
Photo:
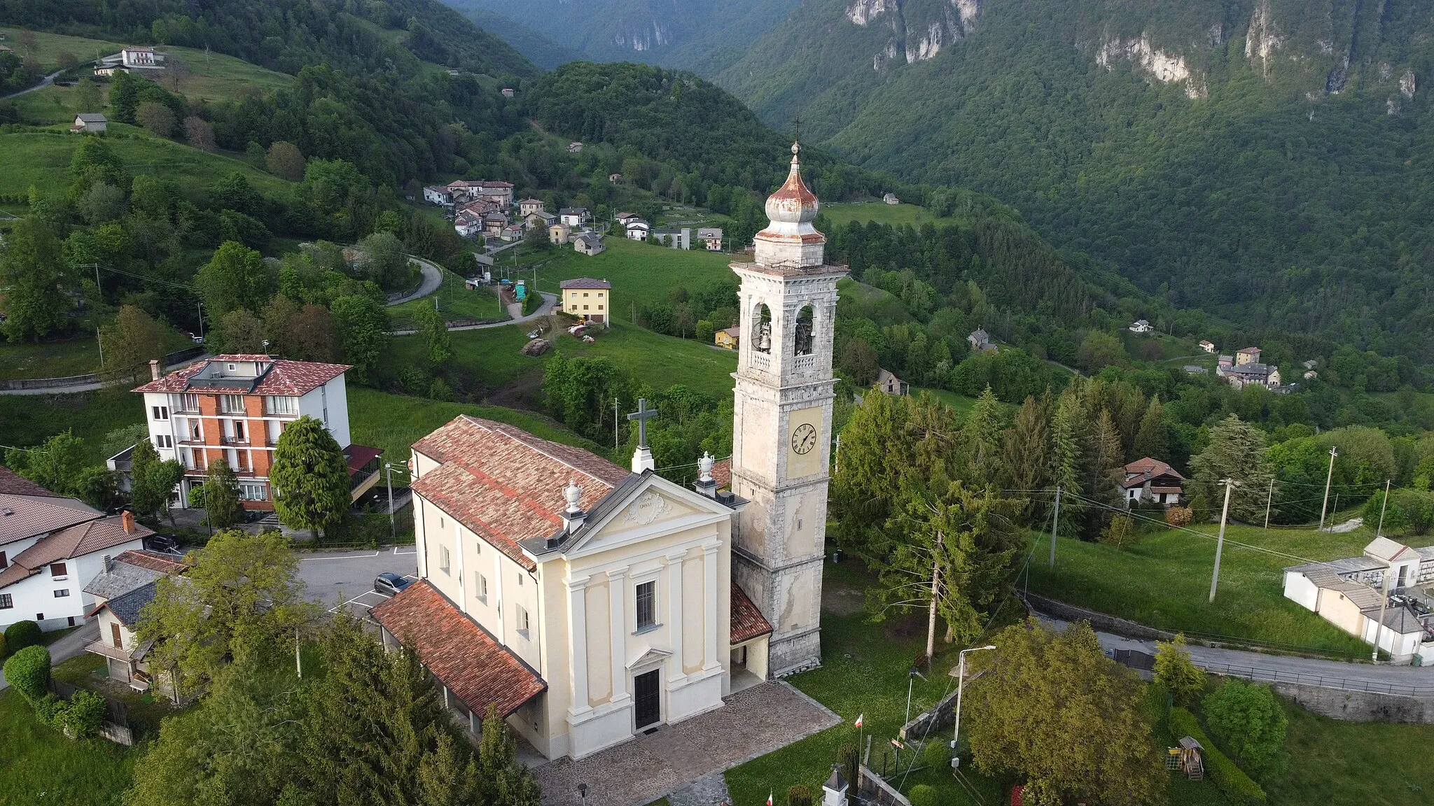
[[[519,353],[528,343],[528,327],[532,324],[455,331],[450,361],[453,371],[470,374],[493,389],[538,373],[554,354],[599,356],[655,390],[681,383],[718,400],[731,394],[737,354],[730,350],[618,323],[611,328],[598,328],[592,344],[579,341],[564,330],[551,330],[546,337],[552,340],[554,349],[545,356],[533,357]],[[423,344],[417,337],[396,337],[384,366],[422,364],[422,353]]]

